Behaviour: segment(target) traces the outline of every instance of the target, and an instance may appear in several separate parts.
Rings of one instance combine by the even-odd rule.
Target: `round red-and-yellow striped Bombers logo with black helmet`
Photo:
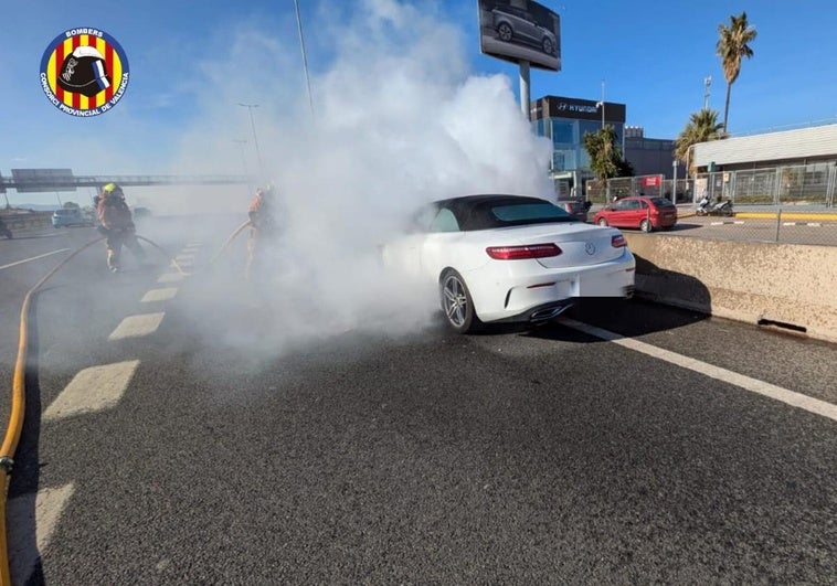
[[[98,29],[70,29],[41,58],[41,88],[53,106],[71,116],[98,116],[128,87],[128,58],[116,39]]]

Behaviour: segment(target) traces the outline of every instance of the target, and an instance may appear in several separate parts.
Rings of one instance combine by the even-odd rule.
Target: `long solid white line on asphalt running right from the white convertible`
[[[573,328],[584,333],[595,335],[596,338],[601,338],[602,340],[607,340],[610,342],[619,344],[624,348],[628,348],[636,352],[648,354],[649,356],[654,356],[656,359],[664,360],[671,364],[682,366],[684,369],[689,369],[691,371],[699,372],[700,374],[711,376],[712,379],[723,381],[724,383],[740,386],[741,388],[745,391],[750,391],[752,393],[757,393],[760,395],[763,395],[776,401],[781,401],[782,403],[786,403],[787,405],[799,407],[802,409],[808,411],[810,413],[815,413],[817,415],[822,415],[823,417],[828,417],[829,419],[834,419],[835,422],[837,422],[837,405],[834,405],[831,403],[819,401],[818,398],[809,397],[807,395],[803,395],[802,393],[797,393],[795,391],[788,391],[787,388],[783,388],[781,386],[776,386],[771,383],[765,383],[764,381],[759,381],[757,379],[751,379],[750,376],[745,376],[737,372],[728,371],[727,369],[713,366],[712,364],[708,364],[706,362],[701,362],[699,360],[691,359],[689,356],[685,356],[676,352],[670,352],[668,350],[664,350],[661,348],[657,348],[651,344],[646,344],[645,342],[640,342],[639,340],[625,338],[618,333],[603,330],[601,328],[596,328],[595,326],[589,326],[586,323],[582,323],[573,319],[559,318],[558,321],[559,323],[562,323],[569,328]]]

